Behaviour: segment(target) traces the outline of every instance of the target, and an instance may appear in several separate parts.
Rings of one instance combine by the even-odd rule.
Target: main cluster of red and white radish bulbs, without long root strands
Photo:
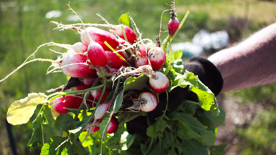
[[[157,47],[152,41],[147,40],[148,43],[145,44],[145,41],[141,37],[137,38],[135,31],[126,25],[108,25],[111,32],[93,26],[85,27],[85,24],[83,27],[84,29],[79,30],[81,42],[76,42],[73,45],[51,44],[68,49],[53,66],[61,68],[68,77],[78,78],[80,82],[73,87],[77,91],[93,86],[103,86],[86,92],[90,95],[90,98],[87,98],[88,102],[84,96],[82,98],[81,96],[66,95],[63,98],[55,98],[50,102],[53,109],[57,113],[68,113],[68,109],[80,108],[81,103],[85,102],[86,107],[88,104],[95,110],[93,120],[87,125],[91,126],[89,132],[96,132],[99,129],[98,124],[101,123],[104,114],[114,102],[114,98],[107,98],[108,95],[112,96],[110,93],[114,93],[111,84],[107,84],[108,79],[111,76],[118,79],[118,73],[128,68],[130,71],[124,71],[124,75],[128,75],[127,77],[138,77],[145,74],[149,77],[149,81],[148,87],[144,91],[140,91],[137,98],[133,99],[133,105],[126,109],[136,112],[153,111],[158,105],[158,93],[165,92],[169,86],[168,78],[161,72],[161,68],[166,62],[164,49]],[[151,72],[144,71],[145,68]],[[139,105],[138,108],[132,108],[137,105]],[[110,126],[112,128],[109,127],[107,133],[114,132],[114,126],[118,126],[116,117],[112,116]]]

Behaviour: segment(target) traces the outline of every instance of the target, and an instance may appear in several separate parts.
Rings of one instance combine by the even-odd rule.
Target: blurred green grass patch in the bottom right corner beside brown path
[[[243,129],[237,129],[240,136],[237,148],[243,155],[274,155],[276,152],[276,110],[271,107],[260,111],[252,124]],[[242,142],[245,141],[246,145]]]

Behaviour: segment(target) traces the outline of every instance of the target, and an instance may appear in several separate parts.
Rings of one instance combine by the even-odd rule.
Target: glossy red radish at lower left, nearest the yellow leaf
[[[92,98],[90,97],[90,99]],[[51,101],[50,104],[53,106],[55,111],[57,111],[57,113],[66,114],[66,113],[69,113],[70,111],[65,108],[78,109],[81,106],[82,102],[83,102],[83,98],[81,98],[81,96],[76,97],[71,95],[65,95],[64,98],[63,97],[55,98],[54,100]],[[87,101],[87,104],[89,104],[90,106],[93,106],[92,102]]]

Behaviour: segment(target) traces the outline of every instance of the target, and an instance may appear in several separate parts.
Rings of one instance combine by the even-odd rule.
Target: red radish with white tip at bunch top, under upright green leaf
[[[137,36],[135,34],[135,32],[129,28],[128,26],[124,25],[124,31],[126,33],[127,36],[127,41],[134,43],[137,40]],[[124,39],[124,34],[122,32],[122,27],[121,25],[117,25],[115,26],[115,30],[114,30],[115,34],[118,35],[120,38]]]

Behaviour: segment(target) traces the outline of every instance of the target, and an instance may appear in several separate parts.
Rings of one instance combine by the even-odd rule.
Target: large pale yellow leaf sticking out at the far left
[[[14,101],[8,109],[7,121],[12,125],[27,123],[38,104],[45,104],[48,96],[44,93],[30,93],[28,97]]]

